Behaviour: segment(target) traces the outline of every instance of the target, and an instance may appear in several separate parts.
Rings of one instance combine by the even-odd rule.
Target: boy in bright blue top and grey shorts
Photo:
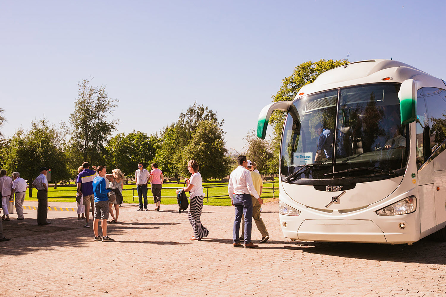
[[[93,179],[93,193],[95,195],[95,212],[93,216],[93,231],[95,232],[95,241],[113,241],[113,238],[107,236],[107,220],[108,220],[108,196],[107,183],[105,175],[107,171],[105,166],[99,166],[98,176]],[[99,220],[101,220],[102,237],[98,233]]]

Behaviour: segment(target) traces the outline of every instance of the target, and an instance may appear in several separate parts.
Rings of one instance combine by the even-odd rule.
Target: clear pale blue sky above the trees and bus
[[[120,100],[117,132],[147,134],[194,101],[242,151],[260,110],[305,61],[398,60],[446,79],[446,1],[0,2],[6,138],[35,118],[68,122],[76,83]],[[116,132],[116,133],[117,133]]]

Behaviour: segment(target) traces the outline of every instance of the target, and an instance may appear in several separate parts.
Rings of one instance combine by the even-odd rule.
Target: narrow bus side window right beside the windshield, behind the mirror
[[[416,144],[416,156],[417,156],[417,169],[420,169],[421,165],[430,157],[429,151],[426,149],[426,141],[424,136],[425,127],[429,127],[427,121],[427,111],[423,95],[423,89],[417,92],[417,123],[415,125],[415,144]],[[427,128],[429,129],[429,128]]]

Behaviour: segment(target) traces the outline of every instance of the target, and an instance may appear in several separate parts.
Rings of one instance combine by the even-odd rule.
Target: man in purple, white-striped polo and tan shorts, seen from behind
[[[96,176],[96,167],[92,168],[95,170],[90,170],[90,164],[88,162],[82,163],[83,171],[79,173],[78,180],[78,193],[83,196],[83,204],[85,205],[85,226],[84,228],[89,228],[88,224],[90,218],[90,206],[92,212],[95,212],[95,195],[93,194],[93,179]],[[93,215],[91,215],[93,216]]]

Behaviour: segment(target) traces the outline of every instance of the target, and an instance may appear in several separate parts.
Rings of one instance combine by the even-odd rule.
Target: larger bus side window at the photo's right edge
[[[446,139],[446,91],[437,88],[423,88],[430,130],[431,154]]]

